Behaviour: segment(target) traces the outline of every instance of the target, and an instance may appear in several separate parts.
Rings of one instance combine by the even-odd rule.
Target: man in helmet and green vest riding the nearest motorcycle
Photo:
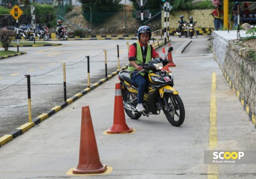
[[[137,72],[142,70],[142,64],[148,63],[151,58],[160,58],[159,54],[154,50],[154,48],[149,45],[149,40],[151,39],[151,29],[148,26],[141,26],[138,29],[139,40],[133,43],[129,49],[129,66],[128,71],[131,75],[131,81],[137,84],[138,87],[138,98],[136,109],[139,112],[145,111],[143,107],[143,96],[147,87],[144,75],[145,72]],[[137,72],[134,70],[137,70]]]

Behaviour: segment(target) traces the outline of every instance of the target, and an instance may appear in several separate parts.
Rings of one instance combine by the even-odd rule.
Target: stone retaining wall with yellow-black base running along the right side
[[[249,51],[238,40],[225,40],[212,32],[210,44],[230,87],[256,125],[256,61],[248,57]]]

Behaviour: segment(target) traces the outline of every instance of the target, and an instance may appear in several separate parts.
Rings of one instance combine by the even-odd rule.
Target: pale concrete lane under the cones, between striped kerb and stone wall
[[[135,133],[104,135],[113,124],[114,87],[119,82],[115,77],[3,145],[0,178],[255,178],[255,165],[204,164],[204,150],[209,150],[213,143],[215,150],[256,147],[255,128],[225,81],[208,45],[207,38],[192,40],[183,54],[174,57],[177,65],[171,68],[174,88],[186,110],[182,126],[173,127],[163,113],[142,116],[139,120],[125,116]],[[214,99],[215,107],[210,105]],[[113,168],[106,175],[67,175],[78,164],[83,105],[90,106],[101,162]],[[215,135],[210,130],[213,121]]]

